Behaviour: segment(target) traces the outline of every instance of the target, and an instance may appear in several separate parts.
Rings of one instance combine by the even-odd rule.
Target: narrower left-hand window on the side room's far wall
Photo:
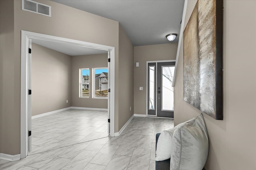
[[[89,82],[90,82],[90,70],[89,68],[79,69],[79,97],[89,98]]]

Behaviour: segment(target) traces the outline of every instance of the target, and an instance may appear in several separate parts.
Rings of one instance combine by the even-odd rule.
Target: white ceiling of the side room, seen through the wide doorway
[[[60,53],[64,53],[70,56],[108,53],[108,51],[105,51],[105,50],[82,47],[82,46],[74,45],[70,43],[60,43],[60,42],[46,41],[46,40],[40,40],[40,39],[32,39],[32,43],[42,45],[43,47],[46,47],[55,51],[59,51]]]

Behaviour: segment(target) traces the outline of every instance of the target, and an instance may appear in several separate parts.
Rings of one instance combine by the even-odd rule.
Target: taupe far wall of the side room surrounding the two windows
[[[108,108],[108,99],[92,98],[92,68],[108,67],[108,54],[72,56],[72,106]],[[79,98],[79,68],[90,68],[89,98]]]

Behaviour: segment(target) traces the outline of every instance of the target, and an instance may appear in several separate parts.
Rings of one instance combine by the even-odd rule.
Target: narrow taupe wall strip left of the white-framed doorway
[[[20,150],[20,131],[15,130],[20,128],[20,116],[15,109],[20,107],[20,104],[14,105],[14,98],[20,98],[20,92],[14,91],[14,82],[19,83],[20,77],[16,76],[15,79],[14,76],[20,76],[20,72],[14,65],[13,47],[14,3],[10,0],[0,0],[0,153],[12,155]],[[14,120],[17,116],[18,119]]]

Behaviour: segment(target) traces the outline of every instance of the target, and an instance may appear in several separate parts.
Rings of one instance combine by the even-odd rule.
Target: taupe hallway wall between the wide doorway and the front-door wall
[[[120,131],[120,129],[124,126],[124,124],[132,117],[134,114],[134,104],[133,104],[133,86],[134,86],[134,79],[133,79],[133,55],[134,55],[134,48],[133,45],[128,39],[124,29],[121,25],[119,25],[119,70],[118,70],[118,129],[115,127],[116,130]],[[119,102],[121,101],[121,102]],[[131,107],[131,111],[130,111]]]

